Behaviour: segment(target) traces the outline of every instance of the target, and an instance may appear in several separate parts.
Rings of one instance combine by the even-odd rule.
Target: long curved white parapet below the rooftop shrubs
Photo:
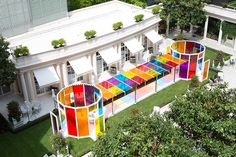
[[[102,36],[98,36],[94,39],[83,41],[77,44],[69,45],[64,48],[59,48],[55,50],[45,51],[39,54],[32,54],[30,56],[24,56],[16,59],[16,67],[18,69],[27,68],[33,65],[39,65],[46,62],[52,61],[66,61],[68,58],[72,58],[77,54],[83,54],[88,51],[95,51],[101,46],[111,45],[122,39],[133,36],[141,31],[149,29],[160,21],[159,16],[152,16],[145,19],[142,22],[136,23],[132,26],[125,27],[121,30],[114,31]]]

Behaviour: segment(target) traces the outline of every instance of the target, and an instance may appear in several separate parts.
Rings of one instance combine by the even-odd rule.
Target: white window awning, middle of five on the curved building
[[[119,55],[113,47],[99,51],[99,54],[105,60],[107,65],[114,64],[121,60],[121,55]]]

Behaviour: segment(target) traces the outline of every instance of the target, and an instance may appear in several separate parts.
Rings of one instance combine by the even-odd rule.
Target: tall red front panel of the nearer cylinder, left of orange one
[[[66,108],[66,120],[67,120],[68,135],[77,136],[74,109]]]

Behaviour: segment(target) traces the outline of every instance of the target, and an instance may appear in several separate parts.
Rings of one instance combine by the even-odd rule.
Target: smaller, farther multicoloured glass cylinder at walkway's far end
[[[187,61],[180,66],[180,78],[191,79],[193,76],[202,74],[205,50],[204,45],[195,41],[181,40],[171,45],[171,55]]]

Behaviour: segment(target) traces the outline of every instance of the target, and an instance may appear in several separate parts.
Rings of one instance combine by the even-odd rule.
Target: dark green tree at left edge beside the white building
[[[15,64],[9,59],[9,42],[0,36],[0,86],[9,86],[16,79]]]

